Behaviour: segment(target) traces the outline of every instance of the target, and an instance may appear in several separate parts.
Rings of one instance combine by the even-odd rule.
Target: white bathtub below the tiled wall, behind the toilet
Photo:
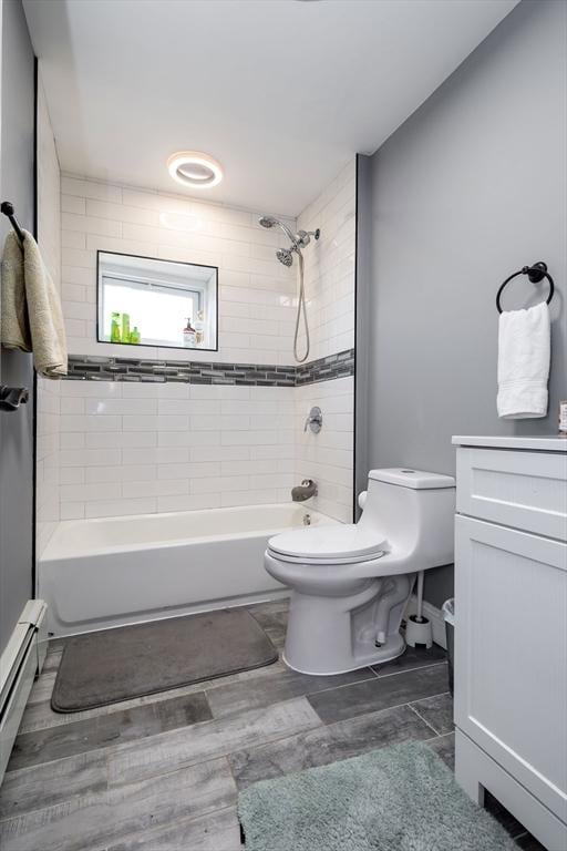
[[[52,635],[286,596],[264,570],[269,537],[338,521],[302,505],[251,505],[64,521],[38,565]]]

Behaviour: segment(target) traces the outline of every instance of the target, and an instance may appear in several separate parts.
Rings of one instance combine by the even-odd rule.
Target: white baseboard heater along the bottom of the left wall
[[[33,680],[45,659],[47,609],[42,599],[30,599],[0,656],[0,783]]]

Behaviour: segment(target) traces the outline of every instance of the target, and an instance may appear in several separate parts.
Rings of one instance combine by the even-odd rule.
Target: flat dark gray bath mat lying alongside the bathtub
[[[272,643],[243,608],[121,626],[70,638],[51,706],[96,706],[271,665]]]

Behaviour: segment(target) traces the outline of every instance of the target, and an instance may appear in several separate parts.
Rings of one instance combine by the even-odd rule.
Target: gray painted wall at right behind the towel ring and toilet
[[[524,0],[372,157],[370,466],[453,473],[452,434],[556,432],[567,398],[566,80],[566,2]],[[549,416],[503,421],[494,299],[539,259],[557,285]],[[519,281],[504,307],[547,294]],[[432,571],[426,598],[451,594],[452,567]]]

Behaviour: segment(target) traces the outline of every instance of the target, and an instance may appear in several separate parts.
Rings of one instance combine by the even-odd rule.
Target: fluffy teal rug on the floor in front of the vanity
[[[255,783],[238,816],[246,851],[517,851],[420,742]]]

